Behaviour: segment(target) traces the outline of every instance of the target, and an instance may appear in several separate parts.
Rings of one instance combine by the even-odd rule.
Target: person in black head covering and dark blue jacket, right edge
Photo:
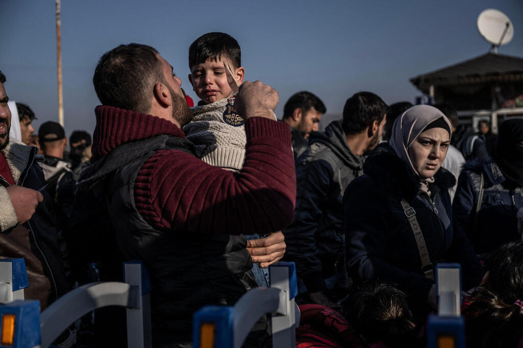
[[[521,238],[517,211],[523,207],[523,120],[499,127],[493,158],[467,163],[452,204],[454,229],[483,254]]]

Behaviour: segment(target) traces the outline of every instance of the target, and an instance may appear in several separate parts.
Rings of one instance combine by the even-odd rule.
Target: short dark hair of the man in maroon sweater
[[[158,51],[138,43],[119,45],[101,56],[93,76],[96,95],[103,105],[146,113],[151,93],[163,82]]]

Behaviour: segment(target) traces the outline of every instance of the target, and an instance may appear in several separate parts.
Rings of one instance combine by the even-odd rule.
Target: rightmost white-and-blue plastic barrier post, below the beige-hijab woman
[[[427,323],[428,348],[465,348],[465,326],[461,317],[461,265],[436,266],[438,315]]]

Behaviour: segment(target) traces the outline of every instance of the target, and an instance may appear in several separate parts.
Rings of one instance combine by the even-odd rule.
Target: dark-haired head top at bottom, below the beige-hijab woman
[[[412,346],[416,338],[405,294],[392,284],[366,282],[349,295],[348,318],[366,343],[388,348]]]

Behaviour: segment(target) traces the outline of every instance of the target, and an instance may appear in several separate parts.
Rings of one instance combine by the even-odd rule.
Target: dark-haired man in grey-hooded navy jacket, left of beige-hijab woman
[[[335,289],[340,296],[344,291],[343,193],[362,175],[363,155],[378,145],[386,110],[376,94],[356,93],[347,99],[342,121],[311,134],[310,147],[296,166],[295,218],[282,231],[287,243],[284,259],[296,263],[313,303],[334,307]]]

